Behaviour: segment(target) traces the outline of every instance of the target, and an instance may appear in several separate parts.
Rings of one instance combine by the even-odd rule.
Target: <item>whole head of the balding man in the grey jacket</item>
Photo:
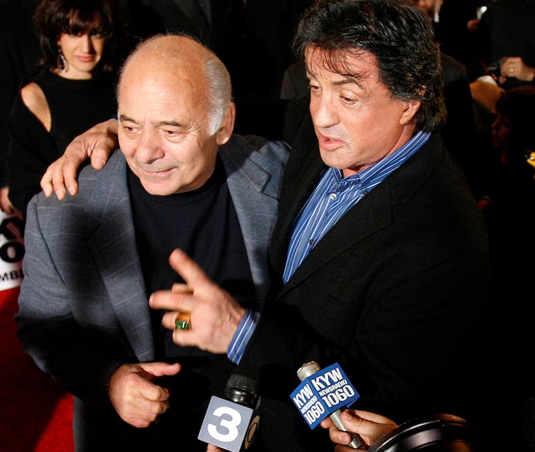
[[[230,77],[213,52],[184,36],[155,36],[123,65],[119,146],[151,195],[196,190],[234,128]]]

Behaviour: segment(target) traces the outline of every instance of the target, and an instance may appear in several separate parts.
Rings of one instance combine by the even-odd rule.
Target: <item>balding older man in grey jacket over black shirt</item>
[[[240,319],[262,308],[287,148],[233,134],[231,93],[202,44],[149,38],[119,80],[121,152],[84,168],[77,196],[29,204],[17,336],[73,394],[77,452],[206,450],[199,426],[232,361],[174,344],[148,299],[187,290],[168,262],[179,247]]]

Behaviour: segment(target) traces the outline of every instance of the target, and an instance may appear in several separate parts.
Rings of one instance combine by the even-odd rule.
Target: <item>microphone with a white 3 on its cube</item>
[[[225,398],[212,396],[198,439],[230,452],[249,449],[258,430],[258,383],[232,374],[225,386]]]

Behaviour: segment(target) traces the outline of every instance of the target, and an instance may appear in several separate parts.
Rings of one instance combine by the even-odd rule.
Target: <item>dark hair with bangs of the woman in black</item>
[[[38,63],[40,70],[60,67],[57,42],[62,33],[105,36],[99,64],[105,74],[115,75],[123,61],[126,38],[114,0],[43,0],[33,15],[33,27],[43,53]]]

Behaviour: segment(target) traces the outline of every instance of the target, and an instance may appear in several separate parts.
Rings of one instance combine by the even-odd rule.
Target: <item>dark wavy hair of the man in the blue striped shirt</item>
[[[324,67],[349,73],[349,59],[363,50],[377,59],[379,79],[398,100],[421,100],[418,130],[439,130],[446,120],[442,63],[432,24],[408,0],[317,0],[294,36],[294,52],[324,53]]]

